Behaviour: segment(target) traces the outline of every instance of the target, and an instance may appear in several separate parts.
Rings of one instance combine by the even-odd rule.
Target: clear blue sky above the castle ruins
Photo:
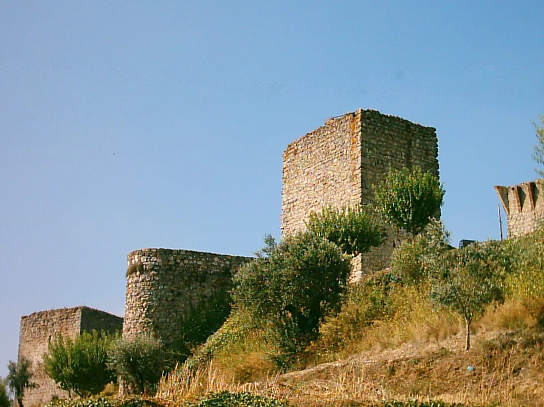
[[[122,315],[128,252],[251,255],[282,152],[357,108],[436,127],[443,220],[535,178],[544,2],[0,3],[0,375],[21,315]]]

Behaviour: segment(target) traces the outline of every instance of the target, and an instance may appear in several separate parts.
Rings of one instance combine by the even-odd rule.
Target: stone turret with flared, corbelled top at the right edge
[[[531,233],[544,220],[544,179],[495,190],[508,217],[508,237]]]

